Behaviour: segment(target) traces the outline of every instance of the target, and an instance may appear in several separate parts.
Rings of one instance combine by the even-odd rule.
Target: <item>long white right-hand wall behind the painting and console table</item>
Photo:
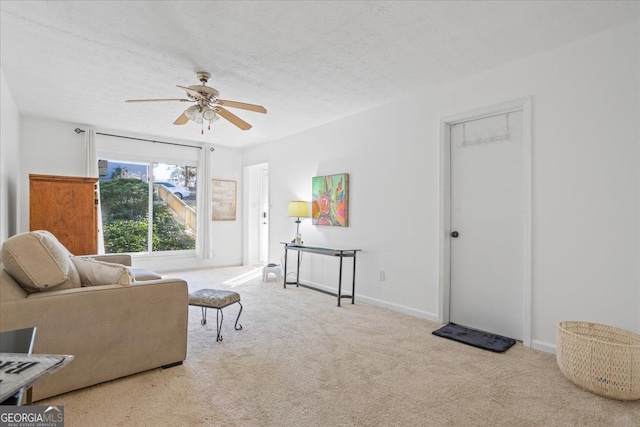
[[[532,96],[533,346],[554,351],[561,320],[640,332],[639,32],[624,25],[245,150],[245,166],[270,165],[271,261],[295,231],[287,202],[309,200],[313,176],[349,173],[349,227],[305,220],[304,240],[364,250],[361,301],[437,319],[439,121]],[[335,283],[326,258],[306,257],[303,279]]]

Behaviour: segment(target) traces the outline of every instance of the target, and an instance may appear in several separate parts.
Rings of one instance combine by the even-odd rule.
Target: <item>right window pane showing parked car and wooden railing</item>
[[[196,173],[193,166],[153,164],[154,252],[196,248]]]

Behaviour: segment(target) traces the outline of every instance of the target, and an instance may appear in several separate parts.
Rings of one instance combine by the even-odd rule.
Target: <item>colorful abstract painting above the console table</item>
[[[311,217],[314,225],[349,225],[349,174],[313,178]]]

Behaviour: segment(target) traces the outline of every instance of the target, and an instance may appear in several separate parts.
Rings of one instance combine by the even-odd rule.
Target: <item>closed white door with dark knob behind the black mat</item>
[[[522,340],[523,111],[451,124],[449,135],[449,321]]]

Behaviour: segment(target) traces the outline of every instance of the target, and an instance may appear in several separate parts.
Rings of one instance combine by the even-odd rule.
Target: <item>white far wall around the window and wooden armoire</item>
[[[29,174],[83,176],[84,174],[84,134],[76,134],[74,129],[87,126],[39,117],[24,116],[21,121],[21,158],[20,171],[20,230],[29,230]],[[96,129],[97,132],[124,135],[135,138],[158,140],[148,135],[134,135],[114,129]],[[3,138],[4,139],[4,138]],[[190,144],[188,141],[166,140],[178,144]],[[168,160],[197,160],[197,149],[180,148],[169,145],[153,144],[144,141],[132,141],[121,138],[97,136],[99,154],[129,153],[132,156],[144,156],[153,150],[162,153]],[[193,145],[193,143],[191,143]],[[242,183],[241,152],[237,149],[215,147],[213,154],[212,178],[237,180]],[[239,201],[238,212],[241,212]],[[150,268],[158,272],[208,266],[239,265],[241,263],[242,215],[236,221],[213,222],[214,259],[202,261],[189,256],[148,256],[136,255],[134,263],[139,267]]]

